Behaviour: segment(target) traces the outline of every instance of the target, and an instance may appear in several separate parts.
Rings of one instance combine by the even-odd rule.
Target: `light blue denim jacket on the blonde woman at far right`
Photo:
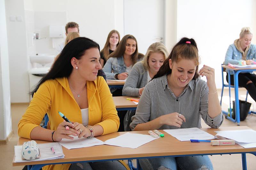
[[[228,47],[224,64],[225,65],[228,65],[228,63],[238,64],[238,60],[241,60],[241,59],[242,59],[242,53],[236,49],[235,44],[231,44]],[[256,61],[256,45],[251,44],[247,52],[246,60]]]

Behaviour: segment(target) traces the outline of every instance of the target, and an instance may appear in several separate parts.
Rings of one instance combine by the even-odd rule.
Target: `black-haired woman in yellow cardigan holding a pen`
[[[31,92],[33,99],[18,125],[19,136],[59,142],[62,138],[72,140],[68,135],[92,138],[116,132],[119,118],[106,81],[97,76],[100,69],[100,47],[96,42],[84,37],[70,41]],[[73,124],[63,122],[58,111]],[[45,113],[50,129],[39,125]],[[67,130],[65,125],[70,128]],[[99,167],[126,169],[122,161],[105,161],[48,165],[43,170]]]

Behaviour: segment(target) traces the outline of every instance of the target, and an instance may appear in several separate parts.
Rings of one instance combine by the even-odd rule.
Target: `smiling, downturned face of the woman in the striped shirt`
[[[195,75],[195,60],[180,59],[178,62],[172,62],[170,59],[169,66],[172,69],[170,82],[173,88],[185,88]]]

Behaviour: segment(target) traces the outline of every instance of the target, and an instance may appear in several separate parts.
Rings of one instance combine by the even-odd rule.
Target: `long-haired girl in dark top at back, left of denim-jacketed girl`
[[[100,51],[100,58],[101,58],[100,64],[102,68],[107,62],[105,56],[108,56],[109,54],[113,53],[116,50],[116,47],[119,45],[119,43],[120,43],[119,32],[116,30],[110,31],[108,34],[108,38],[105,43],[105,46]]]

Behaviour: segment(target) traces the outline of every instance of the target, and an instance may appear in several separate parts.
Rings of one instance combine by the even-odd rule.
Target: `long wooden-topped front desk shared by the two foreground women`
[[[202,128],[202,130],[215,135],[214,131],[226,130],[242,130],[250,129],[247,126],[236,127],[220,127],[219,129]],[[66,149],[62,147],[65,155],[64,159],[53,159],[44,161],[22,162],[15,163],[14,158],[12,166],[33,165],[31,169],[39,170],[41,167],[49,164],[64,164],[76,162],[95,162],[106,160],[121,160],[121,159],[143,159],[143,158],[156,158],[156,157],[179,157],[179,156],[196,156],[196,155],[217,155],[217,154],[241,154],[243,170],[247,169],[246,166],[246,153],[251,153],[256,156],[256,148],[243,148],[240,145],[226,145],[226,146],[212,146],[208,142],[191,143],[190,141],[181,142],[172,137],[166,132],[164,138],[158,138],[136,149],[111,146],[111,145],[98,145],[92,147],[84,147],[78,149]],[[96,137],[102,141],[110,138],[115,138],[126,132],[115,132],[108,135]],[[131,133],[148,134],[148,131],[133,131]],[[26,138],[19,138],[18,145],[28,141]],[[45,143],[47,141],[36,140],[37,143]],[[86,154],[84,154],[86,153]],[[137,161],[137,169],[140,165]]]

